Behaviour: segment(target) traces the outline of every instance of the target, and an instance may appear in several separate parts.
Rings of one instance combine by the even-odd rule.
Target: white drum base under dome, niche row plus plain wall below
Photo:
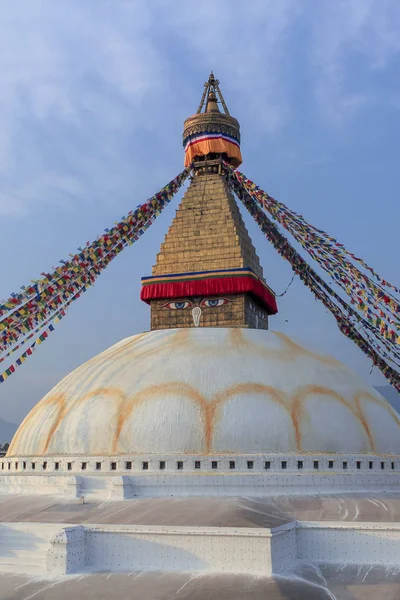
[[[1,466],[3,494],[86,500],[400,490],[399,456],[383,454],[31,456]]]

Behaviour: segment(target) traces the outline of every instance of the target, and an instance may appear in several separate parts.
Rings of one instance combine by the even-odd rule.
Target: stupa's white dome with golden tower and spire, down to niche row
[[[300,472],[316,482],[328,473],[329,486],[346,471],[359,487],[374,469],[397,471],[400,420],[389,403],[333,357],[268,330],[275,294],[223,173],[225,162],[240,164],[239,143],[211,74],[184,125],[191,184],[142,280],[151,331],[51,390],[18,429],[3,470],[168,474],[180,491],[188,473],[224,473],[235,492],[302,485]]]

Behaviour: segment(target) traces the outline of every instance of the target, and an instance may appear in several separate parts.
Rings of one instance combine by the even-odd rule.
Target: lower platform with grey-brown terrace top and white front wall
[[[400,494],[103,503],[10,495],[0,506],[0,572],[288,577],[304,565],[400,567]]]

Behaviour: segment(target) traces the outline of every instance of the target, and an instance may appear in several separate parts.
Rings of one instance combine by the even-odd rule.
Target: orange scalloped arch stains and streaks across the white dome
[[[143,335],[145,335],[145,334],[142,334],[141,336],[137,336],[134,340],[126,342],[126,344],[124,344],[123,347],[117,348],[112,354],[113,360],[115,359],[116,355],[119,354],[120,352],[126,353],[127,348],[132,344],[132,342],[134,342],[133,345],[136,345],[136,342],[139,342]],[[287,336],[285,336],[284,334],[275,334],[275,335],[277,335],[279,338],[282,338],[282,341],[289,340],[289,342],[290,342],[289,350],[285,351],[285,352],[287,352],[287,354],[285,355],[286,358],[288,358],[289,356],[294,357],[296,354],[298,354],[297,348],[299,348],[299,347],[295,343],[292,343],[290,338],[287,338]],[[152,344],[150,344],[149,347],[146,349],[145,355],[146,356],[151,355],[155,352],[158,352],[160,349],[163,349],[163,348],[165,349],[166,347],[170,351],[171,349],[175,348],[177,345],[180,345],[181,343],[185,344],[188,342],[188,340],[190,341],[189,336],[190,336],[190,329],[177,331],[174,334],[173,339],[168,340],[167,344],[161,346],[161,348],[159,346],[157,347],[157,345],[155,348],[152,348],[151,347]],[[232,329],[229,334],[229,338],[230,338],[229,339],[230,343],[234,344],[236,348],[243,347],[243,345],[250,346],[250,347],[256,346],[256,344],[253,344],[251,341],[246,340],[245,335],[239,329]],[[304,350],[301,348],[300,348],[300,350],[301,350],[302,354],[310,354],[309,351],[307,351],[307,350]],[[128,350],[128,352],[129,352],[129,350]],[[281,351],[277,350],[277,352],[275,352],[272,350],[267,350],[267,352],[276,356],[276,353],[279,354]],[[105,354],[106,354],[106,356],[102,356],[102,360],[100,361],[100,364],[102,366],[104,366],[104,362],[106,362],[110,359],[110,356],[108,355],[108,353],[106,352]],[[137,355],[142,356],[142,352],[139,351]],[[130,355],[130,358],[132,358],[132,355]],[[324,357],[320,357],[320,358],[324,358]],[[330,359],[329,357],[327,357],[327,358],[332,364],[337,362],[335,359]],[[324,362],[324,360],[322,362]],[[99,365],[99,368],[100,368],[100,365]],[[98,371],[98,369],[96,369],[96,372],[97,371]],[[86,381],[86,385],[87,385],[87,381]],[[194,388],[193,386],[191,386],[187,383],[183,383],[183,382],[179,382],[179,381],[171,381],[171,382],[168,382],[165,384],[149,386],[149,387],[145,388],[144,390],[140,391],[139,393],[133,395],[132,397],[127,397],[126,394],[124,394],[122,392],[122,390],[120,390],[117,387],[99,387],[96,390],[93,390],[91,392],[88,392],[87,394],[82,395],[81,397],[76,398],[74,401],[72,401],[70,403],[69,406],[67,405],[67,402],[66,402],[65,393],[59,392],[59,393],[53,394],[52,396],[45,397],[41,402],[39,402],[34,407],[34,409],[28,414],[28,416],[25,418],[25,420],[19,427],[17,433],[14,436],[14,439],[12,440],[12,443],[11,443],[10,449],[7,453],[7,456],[13,455],[14,449],[18,446],[19,441],[21,439],[21,435],[24,433],[26,426],[32,421],[32,419],[34,419],[37,416],[38,411],[42,410],[46,406],[54,405],[57,408],[56,416],[51,424],[50,431],[44,441],[43,454],[45,454],[48,452],[48,449],[50,447],[50,444],[51,444],[51,441],[52,441],[54,435],[56,434],[56,432],[58,431],[58,429],[60,428],[63,421],[68,416],[68,414],[71,411],[73,411],[76,407],[81,406],[82,404],[84,404],[85,402],[87,402],[88,400],[90,400],[92,398],[95,398],[96,396],[110,397],[110,399],[112,399],[113,402],[116,404],[116,423],[115,423],[115,428],[114,428],[111,453],[117,453],[121,432],[122,432],[123,427],[126,424],[127,420],[132,415],[132,412],[139,405],[146,403],[148,401],[151,401],[152,399],[155,399],[157,397],[162,398],[163,396],[168,395],[168,394],[178,395],[185,399],[188,399],[190,402],[193,402],[198,407],[198,409],[200,411],[200,415],[201,415],[201,421],[203,422],[203,426],[204,426],[204,448],[203,448],[203,451],[205,451],[207,453],[212,452],[213,437],[214,437],[216,424],[219,422],[219,419],[221,418],[221,416],[219,414],[219,408],[224,403],[228,402],[232,397],[245,395],[245,394],[264,395],[265,399],[268,399],[268,400],[282,406],[289,413],[289,415],[292,419],[297,450],[299,450],[299,451],[302,450],[301,427],[302,427],[302,425],[304,425],[304,419],[308,416],[308,414],[305,413],[304,403],[308,398],[318,395],[318,394],[321,394],[323,396],[328,396],[334,402],[338,402],[341,405],[345,406],[348,410],[350,410],[350,412],[357,418],[357,420],[359,421],[363,430],[365,431],[365,433],[368,437],[368,440],[369,440],[371,450],[373,450],[373,451],[375,451],[374,438],[373,438],[369,423],[368,423],[368,421],[364,415],[363,409],[362,409],[362,401],[361,401],[362,398],[366,399],[367,401],[375,402],[378,405],[380,405],[382,408],[384,408],[392,416],[392,418],[395,420],[397,425],[400,427],[400,418],[396,414],[394,409],[392,409],[392,407],[390,405],[388,405],[388,403],[386,403],[386,401],[384,401],[383,399],[377,398],[377,397],[373,396],[372,394],[370,394],[368,391],[366,391],[366,390],[364,391],[362,389],[355,392],[353,394],[353,397],[351,398],[351,400],[348,400],[345,397],[343,397],[342,395],[340,395],[339,393],[332,390],[331,388],[328,388],[326,386],[321,386],[321,385],[313,385],[313,384],[305,385],[300,388],[297,388],[294,392],[292,392],[289,395],[288,393],[284,392],[283,390],[280,390],[273,386],[268,386],[268,385],[259,384],[259,383],[244,382],[244,383],[239,383],[239,384],[233,385],[222,391],[219,391],[216,394],[214,394],[212,397],[207,398],[203,394],[201,394],[201,392],[199,390],[197,390],[196,388]],[[243,403],[243,405],[245,406],[245,402]],[[166,402],[165,410],[168,410],[167,402]],[[91,449],[91,450],[93,450],[93,452],[96,453],[97,449]]]

